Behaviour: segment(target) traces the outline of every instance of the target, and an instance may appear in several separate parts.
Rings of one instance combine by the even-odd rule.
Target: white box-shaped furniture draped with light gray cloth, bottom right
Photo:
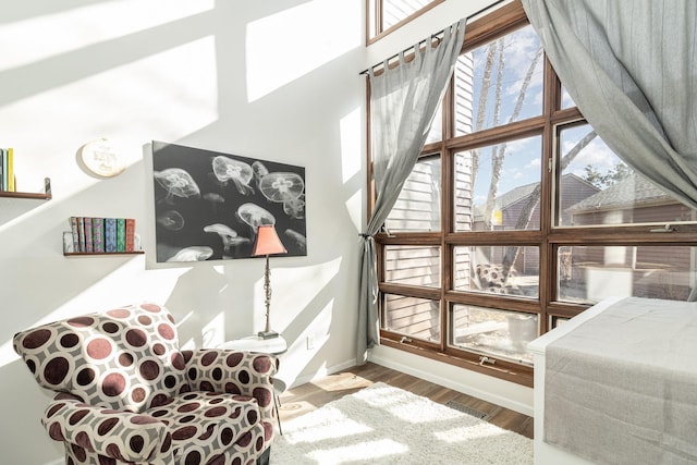
[[[546,364],[546,442],[599,464],[697,463],[697,303],[623,298]]]

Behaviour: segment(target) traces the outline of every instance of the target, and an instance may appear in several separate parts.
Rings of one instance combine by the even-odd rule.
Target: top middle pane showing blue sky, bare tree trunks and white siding
[[[542,114],[542,47],[526,26],[460,57],[455,135]]]

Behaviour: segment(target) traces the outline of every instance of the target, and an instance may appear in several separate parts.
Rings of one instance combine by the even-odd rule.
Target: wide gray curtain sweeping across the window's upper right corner
[[[697,208],[697,1],[523,0],[523,8],[598,135]]]

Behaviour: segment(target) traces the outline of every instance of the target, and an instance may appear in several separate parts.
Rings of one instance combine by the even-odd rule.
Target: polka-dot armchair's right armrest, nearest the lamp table
[[[182,351],[182,354],[192,389],[254,397],[261,419],[273,420],[273,375],[279,364],[276,356],[222,348]]]

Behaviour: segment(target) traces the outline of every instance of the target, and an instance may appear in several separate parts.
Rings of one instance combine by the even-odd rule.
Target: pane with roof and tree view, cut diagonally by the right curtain
[[[697,210],[635,173],[588,124],[560,131],[560,151],[563,169],[557,225],[697,220]]]

